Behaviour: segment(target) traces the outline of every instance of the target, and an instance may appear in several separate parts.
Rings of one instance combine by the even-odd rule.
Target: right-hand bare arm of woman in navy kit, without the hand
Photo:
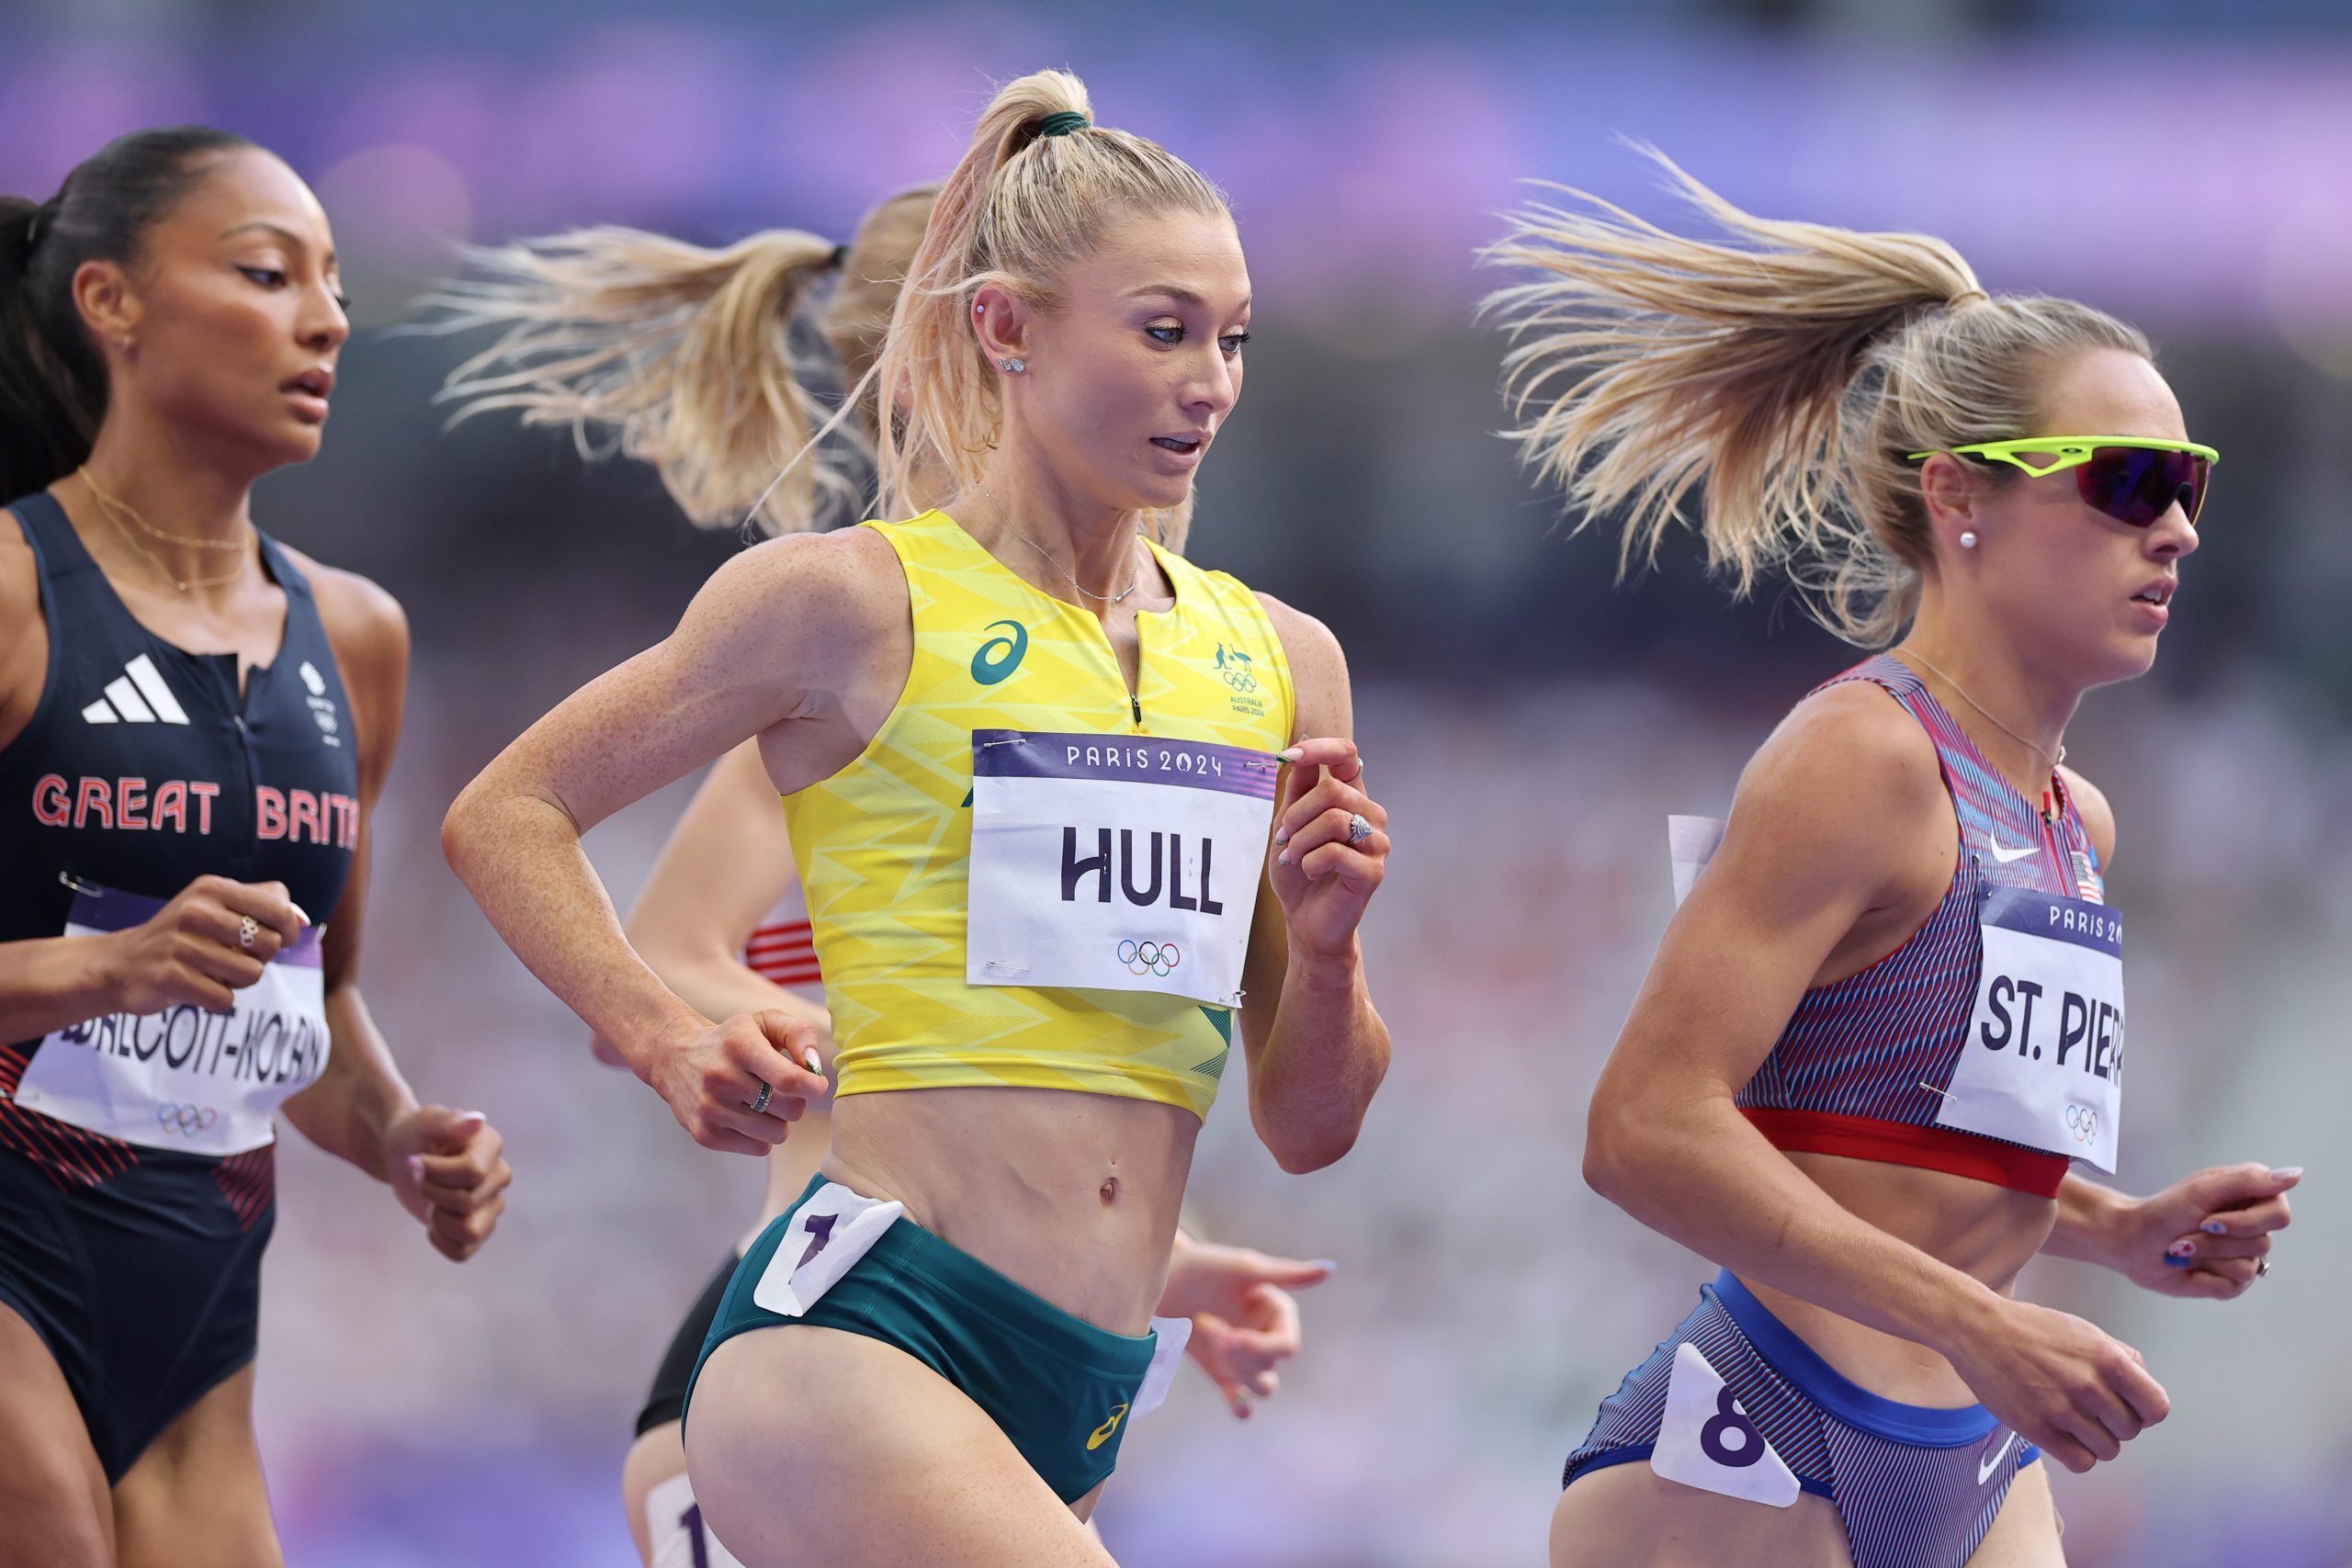
[[[360,846],[336,907],[313,912],[327,919],[327,936],[320,943],[332,1041],[327,1070],[318,1084],[287,1100],[285,1114],[318,1147],[348,1159],[376,1180],[390,1180],[383,1161],[386,1131],[416,1110],[416,1095],[400,1077],[393,1051],[360,994],[360,929],[374,865],[376,799],[400,748],[407,705],[409,623],[400,604],[367,578],[308,559],[303,571],[350,698],[350,733],[360,748]]]

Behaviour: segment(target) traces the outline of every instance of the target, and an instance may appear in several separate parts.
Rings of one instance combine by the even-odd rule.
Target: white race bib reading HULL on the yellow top
[[[964,980],[1242,1004],[1268,752],[971,731]]]

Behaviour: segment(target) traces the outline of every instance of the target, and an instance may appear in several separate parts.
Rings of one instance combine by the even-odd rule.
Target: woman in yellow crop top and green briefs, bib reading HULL
[[[1357,947],[1385,811],[1338,646],[1138,538],[1190,498],[1247,322],[1221,195],[1073,78],[1009,85],[875,371],[884,508],[922,461],[953,508],[748,550],[452,806],[534,973],[703,1145],[764,1152],[828,1088],[814,1025],[668,992],[579,835],[748,736],[786,797],[833,1152],[687,1422],[753,1568],[1110,1561],[1080,1519],[1164,1378],[1150,1307],[1235,1025],[1289,1171],[1350,1147],[1385,1072]]]

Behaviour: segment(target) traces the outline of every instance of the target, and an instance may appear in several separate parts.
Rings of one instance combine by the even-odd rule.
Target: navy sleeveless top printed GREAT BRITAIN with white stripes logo
[[[9,512],[33,545],[49,670],[31,724],[0,750],[0,943],[61,936],[75,884],[167,900],[200,875],[285,882],[334,914],[360,842],[360,757],[310,583],[263,534],[287,595],[285,642],[247,672],[188,654],[115,597],[49,494]],[[40,1046],[0,1044],[0,1095]],[[0,1098],[0,1147],[96,1180],[136,1164],[115,1138]]]

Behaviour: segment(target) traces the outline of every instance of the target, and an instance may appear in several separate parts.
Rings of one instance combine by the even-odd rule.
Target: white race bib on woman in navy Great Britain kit
[[[66,936],[141,926],[162,898],[78,886]],[[108,1013],[42,1037],[16,1103],[122,1143],[191,1154],[242,1154],[270,1143],[278,1107],[327,1067],[327,992],[320,933],[233,992],[226,1013],[174,1006]]]

